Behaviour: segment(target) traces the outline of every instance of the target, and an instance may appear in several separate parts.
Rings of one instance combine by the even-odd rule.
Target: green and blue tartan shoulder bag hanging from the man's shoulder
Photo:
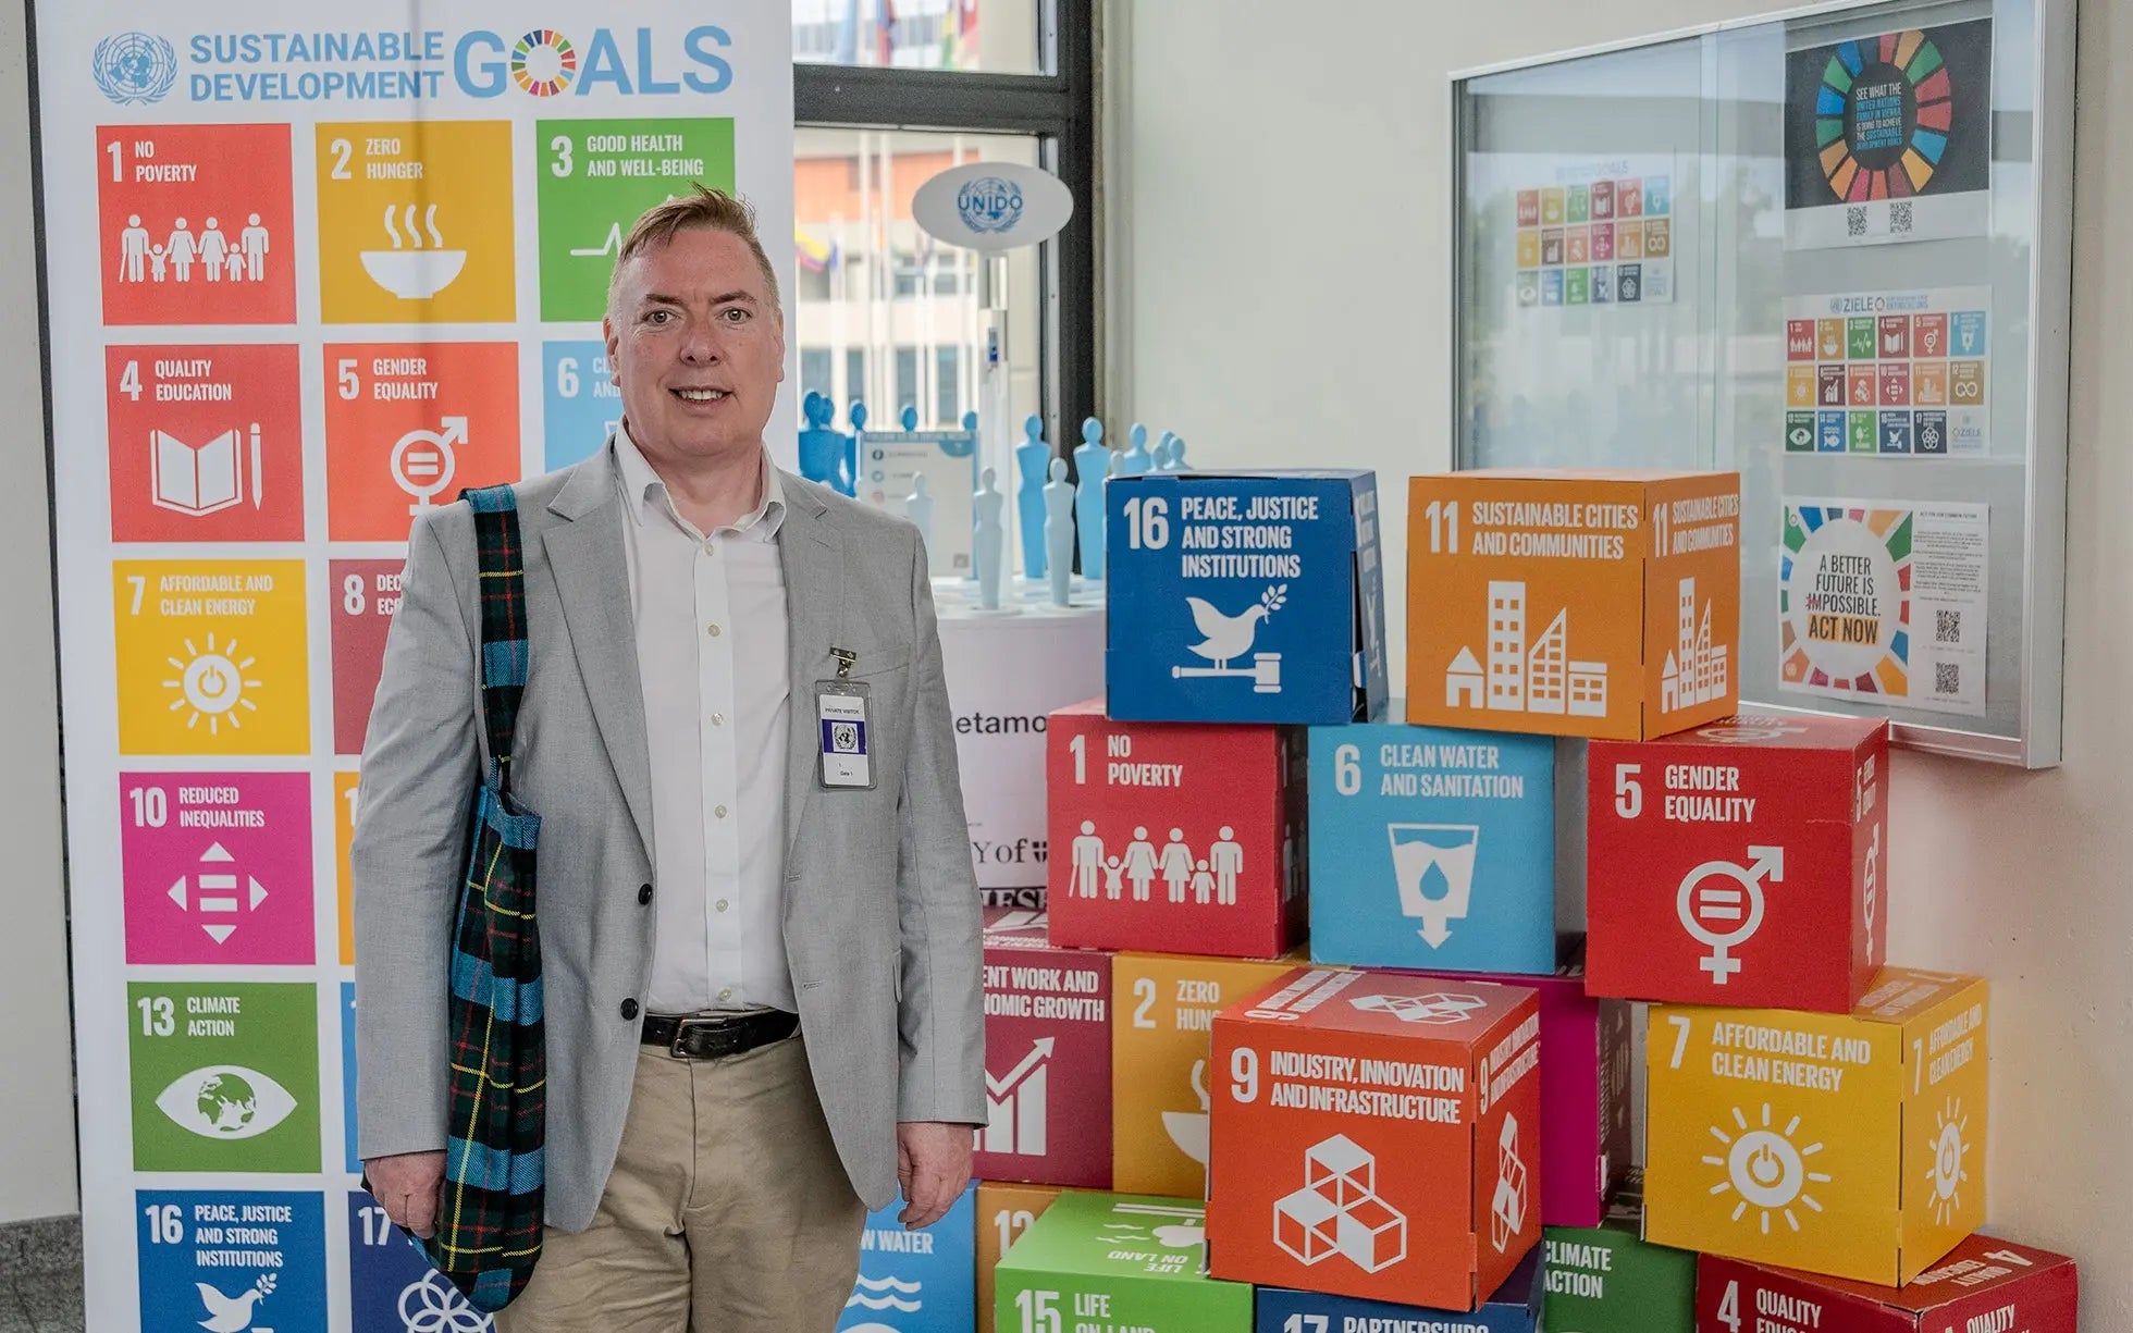
[[[467,491],[482,582],[482,727],[493,755],[474,800],[452,932],[450,1145],[431,1265],[476,1310],[516,1297],[542,1241],[548,1060],[542,1041],[533,851],[540,815],[512,796],[512,738],[527,682],[527,599],[510,486]]]

